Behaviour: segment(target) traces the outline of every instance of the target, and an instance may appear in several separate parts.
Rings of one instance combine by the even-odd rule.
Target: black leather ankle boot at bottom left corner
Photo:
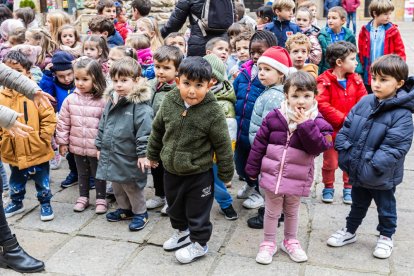
[[[0,245],[0,267],[11,268],[21,273],[39,272],[45,268],[45,264],[20,247],[16,236]]]

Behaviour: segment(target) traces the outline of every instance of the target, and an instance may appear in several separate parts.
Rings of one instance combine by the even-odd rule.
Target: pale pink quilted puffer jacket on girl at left
[[[106,101],[77,90],[66,97],[59,113],[56,141],[69,145],[71,153],[96,157],[95,138]]]

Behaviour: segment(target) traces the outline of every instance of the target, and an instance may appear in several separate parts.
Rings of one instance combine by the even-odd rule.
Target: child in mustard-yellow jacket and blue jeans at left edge
[[[21,53],[10,51],[4,57],[4,63],[23,75],[30,77],[32,64]],[[49,221],[54,218],[50,199],[52,192],[49,183],[49,160],[54,153],[51,138],[56,126],[56,116],[53,107],[36,107],[25,96],[14,90],[5,88],[0,95],[0,104],[14,111],[24,113],[19,118],[21,123],[33,128],[29,137],[11,136],[7,131],[1,131],[1,159],[10,164],[10,198],[11,202],[5,208],[6,217],[24,211],[23,199],[26,193],[26,183],[29,175],[33,178],[40,202],[40,219]]]

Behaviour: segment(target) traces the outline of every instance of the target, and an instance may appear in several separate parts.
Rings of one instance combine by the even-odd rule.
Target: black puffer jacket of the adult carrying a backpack
[[[189,17],[191,36],[188,40],[187,56],[205,56],[207,41],[214,37],[227,36],[225,32],[219,34],[207,34],[206,37],[203,36],[200,27],[192,18],[191,14],[200,18],[204,2],[205,0],[178,0],[170,19],[161,29],[161,35],[165,38],[172,32],[178,32],[184,25],[187,17]]]

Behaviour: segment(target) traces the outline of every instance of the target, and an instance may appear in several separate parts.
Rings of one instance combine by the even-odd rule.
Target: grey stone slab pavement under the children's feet
[[[360,23],[361,24],[361,23]],[[361,26],[359,24],[359,26]],[[400,23],[407,47],[411,74],[414,73],[413,23]],[[320,168],[320,159],[318,159]],[[326,240],[331,233],[344,226],[349,206],[339,197],[341,185],[333,204],[320,200],[321,185],[312,196],[302,200],[300,208],[299,240],[309,256],[302,264],[292,262],[280,250],[268,266],[255,262],[261,230],[249,229],[246,219],[255,210],[234,206],[240,218],[230,222],[218,213],[214,204],[211,212],[214,225],[209,253],[188,265],[179,264],[173,253],[164,252],[162,243],[171,235],[169,220],[159,211],[149,212],[150,222],[140,232],[130,232],[128,222],[109,223],[105,216],[96,215],[93,207],[83,213],[72,211],[78,197],[78,186],[62,190],[59,183],[67,174],[64,168],[52,172],[52,206],[55,219],[41,222],[39,205],[33,182],[27,185],[26,211],[9,219],[23,248],[46,263],[46,275],[413,275],[414,274],[414,149],[408,154],[404,182],[397,189],[398,229],[391,258],[379,260],[372,256],[377,240],[377,216],[372,205],[358,231],[358,241],[343,248],[330,248]],[[339,171],[337,179],[340,179]],[[318,181],[317,181],[318,182]],[[234,196],[243,185],[236,177],[230,189]],[[149,185],[151,186],[151,185]],[[153,195],[153,189],[147,189]],[[91,191],[94,202],[94,191]],[[112,205],[111,209],[116,208]],[[279,233],[282,233],[280,228]],[[279,234],[281,237],[281,234]],[[0,269],[0,275],[19,275]]]

